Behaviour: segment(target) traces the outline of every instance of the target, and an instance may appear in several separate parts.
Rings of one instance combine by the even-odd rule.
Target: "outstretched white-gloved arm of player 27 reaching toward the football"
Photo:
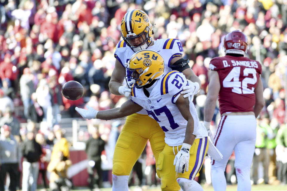
[[[121,107],[104,110],[104,111],[97,111],[94,110],[90,106],[86,106],[88,110],[81,109],[76,107],[76,111],[80,113],[83,118],[87,119],[103,119],[103,120],[111,120],[117,118],[123,118],[128,115],[132,115],[133,113],[137,113],[143,109],[140,105],[132,102],[131,99],[126,101],[121,105]]]

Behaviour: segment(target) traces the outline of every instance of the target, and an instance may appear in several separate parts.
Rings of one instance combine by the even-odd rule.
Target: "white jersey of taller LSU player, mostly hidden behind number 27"
[[[168,73],[172,70],[170,68],[170,61],[172,58],[182,56],[183,54],[182,44],[175,38],[158,39],[154,41],[152,46],[147,47],[147,49],[158,52],[164,58],[164,73]],[[135,52],[126,45],[126,42],[122,40],[116,45],[114,56],[123,67],[125,67],[125,63],[129,61],[134,53]],[[138,113],[147,115],[145,110],[141,110]]]

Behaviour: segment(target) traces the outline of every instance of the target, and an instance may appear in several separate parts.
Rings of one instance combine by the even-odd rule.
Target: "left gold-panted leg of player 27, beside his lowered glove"
[[[177,147],[174,147],[177,150]],[[178,151],[176,151],[177,153]],[[177,191],[180,190],[175,178],[175,166],[173,165],[174,160],[173,147],[167,144],[164,150],[159,153],[157,171],[161,175],[161,190],[162,191]]]

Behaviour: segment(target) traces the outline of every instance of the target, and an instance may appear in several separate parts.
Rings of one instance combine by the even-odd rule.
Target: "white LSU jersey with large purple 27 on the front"
[[[132,88],[132,101],[142,106],[148,115],[159,123],[165,133],[165,143],[169,146],[182,145],[185,137],[187,121],[181,115],[175,102],[180,96],[182,87],[187,84],[183,73],[172,70],[155,82],[149,97],[146,97],[143,88]],[[194,120],[193,134],[196,138],[206,137],[207,131],[199,123],[191,100],[190,113]]]

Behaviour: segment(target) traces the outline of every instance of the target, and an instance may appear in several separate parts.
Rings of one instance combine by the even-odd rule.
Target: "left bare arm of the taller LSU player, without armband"
[[[115,68],[112,72],[112,76],[109,82],[110,92],[115,95],[123,95],[119,92],[119,87],[123,86],[123,80],[126,76],[126,69],[120,64],[120,61],[116,59]]]

